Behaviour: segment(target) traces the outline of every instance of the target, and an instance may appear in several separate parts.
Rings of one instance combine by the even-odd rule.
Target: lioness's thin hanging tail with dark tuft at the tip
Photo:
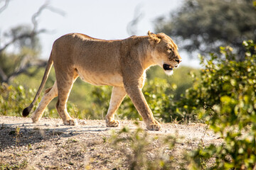
[[[50,69],[51,69],[52,66],[53,66],[53,55],[52,55],[52,53],[50,53],[50,58],[49,58],[49,60],[47,62],[46,71],[43,74],[42,82],[41,82],[41,84],[39,86],[38,91],[36,92],[36,96],[33,99],[32,103],[27,108],[24,108],[24,110],[22,111],[23,117],[28,116],[28,114],[31,112],[34,104],[36,103],[36,101],[38,99],[39,94],[41,93],[41,91],[43,89],[43,86],[46,84],[46,80],[48,79],[48,76],[49,76],[49,73],[50,73]]]

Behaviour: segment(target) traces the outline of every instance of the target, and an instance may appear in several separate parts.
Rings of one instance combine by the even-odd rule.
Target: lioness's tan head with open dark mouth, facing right
[[[173,73],[174,67],[181,63],[178,47],[171,38],[164,33],[150,33],[149,42],[152,45],[151,56],[156,64],[164,69],[167,75]]]

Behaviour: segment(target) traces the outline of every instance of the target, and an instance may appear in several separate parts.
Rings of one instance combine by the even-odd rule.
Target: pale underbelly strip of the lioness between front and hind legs
[[[94,74],[78,70],[78,75],[83,81],[93,85],[124,86],[122,76],[119,74]]]

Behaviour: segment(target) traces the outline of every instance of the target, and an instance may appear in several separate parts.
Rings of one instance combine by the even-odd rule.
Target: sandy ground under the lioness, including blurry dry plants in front
[[[0,117],[0,169],[129,169],[131,164],[180,169],[183,152],[197,147],[203,135],[206,145],[221,142],[201,124],[164,124],[164,130],[151,132],[142,130],[143,123],[138,130],[125,120],[129,132],[124,132],[105,127],[104,120],[79,121],[71,127],[59,119],[33,124],[28,118]]]

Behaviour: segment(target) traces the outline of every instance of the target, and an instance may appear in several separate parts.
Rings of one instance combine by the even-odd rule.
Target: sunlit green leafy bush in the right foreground
[[[231,47],[220,47],[224,57],[201,56],[201,80],[186,98],[225,143],[198,148],[191,154],[192,169],[205,169],[203,160],[214,158],[208,169],[256,168],[256,45],[244,41],[245,60],[236,62]]]

